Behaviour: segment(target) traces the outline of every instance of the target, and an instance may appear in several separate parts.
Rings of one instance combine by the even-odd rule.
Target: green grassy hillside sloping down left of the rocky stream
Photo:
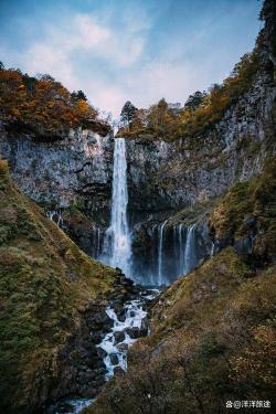
[[[22,413],[43,400],[81,312],[88,300],[113,291],[115,280],[115,270],[79,251],[19,192],[1,160],[1,412]]]

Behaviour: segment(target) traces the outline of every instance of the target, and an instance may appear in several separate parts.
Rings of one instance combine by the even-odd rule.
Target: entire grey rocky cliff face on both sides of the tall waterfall
[[[171,245],[176,237],[170,234],[183,224],[178,212],[188,206],[197,212],[198,202],[213,200],[234,182],[259,174],[265,158],[275,151],[275,99],[274,63],[264,49],[251,89],[203,135],[177,141],[126,138],[134,263],[144,263],[145,269],[153,261],[157,272],[160,223],[171,217],[164,227],[164,245]],[[20,189],[49,211],[62,209],[71,237],[99,257],[110,216],[113,134],[102,137],[78,129],[49,142],[8,132],[3,125],[0,134],[1,153]],[[192,224],[200,219],[194,216]],[[204,241],[201,259],[211,254],[212,243],[206,231],[202,237],[201,231],[195,234],[197,243]],[[141,267],[135,266],[140,273]]]

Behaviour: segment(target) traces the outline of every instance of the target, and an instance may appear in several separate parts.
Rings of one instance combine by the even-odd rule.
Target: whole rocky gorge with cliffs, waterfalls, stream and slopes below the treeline
[[[140,124],[116,132],[98,118],[38,134],[45,126],[1,113],[3,412],[274,403],[275,15],[266,0],[252,78],[237,72],[181,109],[197,134]],[[246,89],[236,93],[236,78]],[[65,102],[60,84],[35,82]],[[234,97],[215,117],[212,94],[229,84]],[[210,112],[203,127],[197,110]]]

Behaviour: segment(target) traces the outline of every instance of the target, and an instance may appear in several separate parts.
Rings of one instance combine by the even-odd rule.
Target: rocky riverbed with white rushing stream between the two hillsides
[[[149,332],[147,308],[158,294],[158,289],[140,290],[125,304],[114,298],[104,310],[93,315],[94,327],[96,322],[100,328],[98,336],[95,335],[94,329],[89,332],[89,337],[93,337],[93,342],[97,338],[99,343],[93,343],[91,352],[85,353],[85,369],[78,375],[78,393],[82,397],[71,395],[62,399],[47,407],[47,414],[81,413],[84,407],[93,403],[106,381],[116,372],[126,371],[129,347]],[[89,312],[87,320],[92,318],[92,315],[88,315]],[[85,340],[87,340],[86,346],[91,343],[88,338]]]

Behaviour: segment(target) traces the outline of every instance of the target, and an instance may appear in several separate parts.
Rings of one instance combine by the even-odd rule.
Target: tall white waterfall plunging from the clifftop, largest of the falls
[[[131,273],[131,240],[127,222],[127,161],[124,138],[115,139],[113,167],[112,221],[105,237],[106,262]]]

